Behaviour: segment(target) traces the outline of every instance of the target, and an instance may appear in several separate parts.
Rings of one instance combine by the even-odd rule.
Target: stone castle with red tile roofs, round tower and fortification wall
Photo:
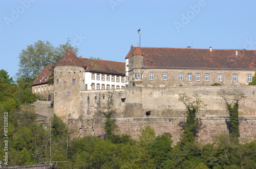
[[[121,63],[78,58],[69,48],[57,64],[44,68],[32,91],[53,100],[54,113],[72,119],[80,136],[103,134],[104,119],[95,106],[106,102],[111,90],[121,132],[129,129],[134,134],[143,122],[157,134],[172,133],[175,140],[179,139],[180,124],[186,116],[185,106],[178,101],[179,93],[197,93],[208,105],[197,115],[204,125],[199,136],[202,142],[210,142],[217,133],[228,132],[226,104],[218,92],[244,92],[246,98],[240,101],[239,109],[241,138],[253,139],[256,88],[248,83],[256,71],[255,63],[256,51],[245,49],[131,46],[125,63]],[[54,86],[47,85],[51,66]],[[210,86],[215,82],[222,86]]]

